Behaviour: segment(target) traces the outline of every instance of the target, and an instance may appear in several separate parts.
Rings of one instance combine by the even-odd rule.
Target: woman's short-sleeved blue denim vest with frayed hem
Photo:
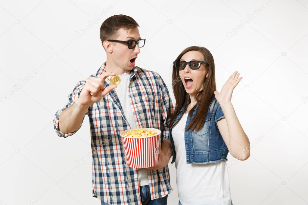
[[[198,111],[198,105],[199,103],[193,109],[192,116],[187,116],[185,127],[188,126],[188,124]],[[173,122],[172,128],[174,124],[179,120],[179,118],[183,115],[185,106],[186,102],[183,105],[179,115],[176,117],[176,120]],[[217,121],[224,117],[225,115],[222,112],[219,103],[216,101],[216,98],[214,97],[213,101],[209,106],[203,128],[199,131],[193,131],[189,129],[184,132],[187,164],[209,164],[216,163],[222,160],[228,160],[227,155],[229,153],[229,150],[217,127]],[[172,138],[172,128],[170,129],[170,142],[173,153],[171,163],[174,163],[176,153],[174,141]]]

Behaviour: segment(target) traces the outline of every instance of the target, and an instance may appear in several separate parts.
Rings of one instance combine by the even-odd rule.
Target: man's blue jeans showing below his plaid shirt
[[[150,185],[140,186],[140,197],[143,205],[167,205],[168,195],[158,199],[151,199]],[[107,205],[107,203],[102,201],[102,205]]]

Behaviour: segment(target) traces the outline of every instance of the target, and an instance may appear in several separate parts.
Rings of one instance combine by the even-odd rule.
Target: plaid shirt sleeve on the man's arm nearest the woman
[[[169,112],[173,112],[173,104],[172,100],[169,95],[168,87],[164,83],[163,79],[160,77],[160,113],[161,113],[161,123],[162,123],[162,128],[161,128],[161,136],[162,136],[162,141],[163,140],[169,140],[170,139],[170,132],[168,128],[168,122],[167,122],[167,114]]]

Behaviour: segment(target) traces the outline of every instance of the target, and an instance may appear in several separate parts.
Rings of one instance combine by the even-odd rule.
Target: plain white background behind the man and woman
[[[172,99],[172,61],[191,45],[213,54],[219,92],[234,71],[243,77],[232,104],[251,156],[228,156],[234,205],[308,203],[307,1],[2,0],[0,204],[100,204],[91,197],[88,117],[67,139],[52,120],[75,84],[106,60],[99,28],[115,14],[138,22],[148,41],[136,65],[160,73]],[[169,168],[168,204],[177,204],[174,164]]]

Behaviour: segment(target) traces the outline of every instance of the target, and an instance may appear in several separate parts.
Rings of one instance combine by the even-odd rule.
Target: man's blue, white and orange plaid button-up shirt
[[[90,77],[105,72],[105,64]],[[105,80],[105,87],[110,84]],[[69,102],[55,114],[54,128],[58,136],[68,137],[59,131],[60,113],[79,97],[86,81],[79,81],[68,95]],[[120,132],[129,129],[126,117],[133,117],[137,128],[156,128],[162,131],[161,141],[169,139],[168,109],[173,105],[168,88],[156,72],[134,67],[130,76],[128,96],[134,116],[124,116],[120,101],[114,90],[100,101],[92,104],[85,115],[89,116],[92,148],[92,196],[108,204],[141,204],[138,169],[129,168],[125,161]],[[83,118],[84,119],[84,118]],[[173,189],[169,182],[169,169],[148,170],[151,199],[169,194]]]

